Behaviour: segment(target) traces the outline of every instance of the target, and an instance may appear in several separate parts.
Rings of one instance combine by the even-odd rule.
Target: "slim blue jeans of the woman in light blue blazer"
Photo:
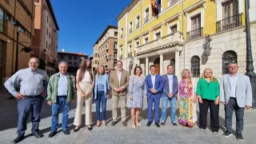
[[[97,121],[100,120],[101,102],[102,102],[102,120],[106,121],[106,98],[105,98],[104,91],[98,91],[97,92],[97,98],[96,98],[96,117],[97,117]]]

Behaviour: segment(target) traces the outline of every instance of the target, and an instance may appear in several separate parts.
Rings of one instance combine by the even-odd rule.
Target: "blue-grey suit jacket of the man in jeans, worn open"
[[[168,94],[170,94],[170,86],[169,86],[169,79],[167,74],[164,74],[162,76],[162,80],[164,82],[164,86],[162,89],[162,96],[163,97],[168,97]],[[173,74],[173,91],[172,94],[174,95],[174,97],[176,96],[176,94],[178,94],[178,78],[176,75]]]

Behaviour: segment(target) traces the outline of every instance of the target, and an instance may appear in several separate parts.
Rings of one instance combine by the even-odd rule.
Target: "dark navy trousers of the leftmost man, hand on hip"
[[[32,134],[38,132],[40,122],[40,112],[42,109],[42,97],[23,98],[18,101],[18,135],[24,135],[26,131],[26,121],[31,111]]]

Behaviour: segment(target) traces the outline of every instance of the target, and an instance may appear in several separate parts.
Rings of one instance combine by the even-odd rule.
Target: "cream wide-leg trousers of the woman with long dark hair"
[[[84,94],[90,90],[90,83],[80,82],[79,86]],[[86,126],[90,126],[92,124],[92,114],[91,114],[91,106],[93,102],[93,93],[91,92],[86,98],[82,97],[78,91],[77,98],[77,109],[74,116],[74,126],[81,126],[82,124],[82,105],[83,102],[86,102]]]

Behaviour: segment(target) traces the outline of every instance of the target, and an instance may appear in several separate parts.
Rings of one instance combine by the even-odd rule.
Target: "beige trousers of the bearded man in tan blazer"
[[[118,118],[118,105],[121,108],[122,122],[126,121],[126,96],[112,95],[112,118],[117,122]]]

